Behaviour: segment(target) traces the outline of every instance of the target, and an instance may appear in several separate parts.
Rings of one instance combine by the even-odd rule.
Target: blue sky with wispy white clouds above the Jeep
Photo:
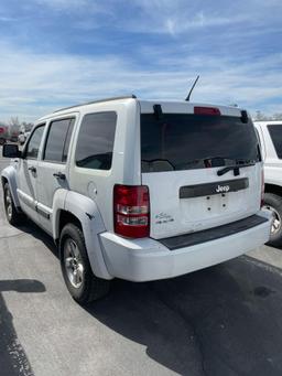
[[[134,93],[282,112],[282,1],[1,0],[0,119]]]

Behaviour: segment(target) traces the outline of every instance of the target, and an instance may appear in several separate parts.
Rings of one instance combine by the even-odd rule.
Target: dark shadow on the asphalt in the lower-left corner
[[[45,287],[33,279],[0,281],[0,375],[33,376],[32,367],[13,326],[13,316],[2,297],[1,292],[4,291],[40,293],[45,291]]]

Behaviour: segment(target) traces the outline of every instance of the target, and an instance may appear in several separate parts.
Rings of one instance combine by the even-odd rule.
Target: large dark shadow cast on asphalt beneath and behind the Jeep
[[[58,256],[48,235],[32,223],[26,229]],[[281,376],[281,277],[240,257],[171,280],[117,279],[83,309],[180,375]]]

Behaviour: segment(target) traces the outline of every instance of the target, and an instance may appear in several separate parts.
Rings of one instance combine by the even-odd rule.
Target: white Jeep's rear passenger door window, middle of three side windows
[[[75,119],[54,120],[50,125],[43,159],[51,162],[65,162]]]

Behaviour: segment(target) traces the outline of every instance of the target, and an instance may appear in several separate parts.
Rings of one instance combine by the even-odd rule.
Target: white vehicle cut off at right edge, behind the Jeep
[[[256,121],[264,160],[264,205],[273,214],[269,244],[282,246],[282,120]]]

